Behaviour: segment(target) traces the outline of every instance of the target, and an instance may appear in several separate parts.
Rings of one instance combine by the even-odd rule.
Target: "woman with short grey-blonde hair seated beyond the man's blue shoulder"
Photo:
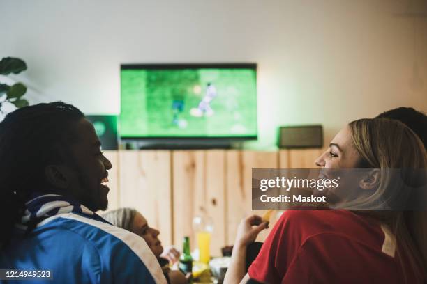
[[[142,237],[158,259],[168,283],[187,283],[187,279],[181,271],[170,269],[170,264],[172,265],[179,260],[179,251],[173,247],[164,251],[162,243],[158,239],[160,232],[155,228],[151,228],[147,219],[140,212],[132,208],[120,208],[103,214],[103,218],[114,226]]]

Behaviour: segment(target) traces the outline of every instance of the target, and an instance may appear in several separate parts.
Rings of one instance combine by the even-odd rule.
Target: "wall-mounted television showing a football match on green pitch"
[[[123,139],[257,137],[256,64],[121,65]]]

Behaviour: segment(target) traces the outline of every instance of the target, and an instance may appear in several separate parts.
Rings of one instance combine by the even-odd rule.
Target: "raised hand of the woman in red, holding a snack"
[[[268,222],[263,222],[262,218],[257,215],[251,215],[242,219],[237,228],[237,237],[234,245],[248,246],[255,242],[257,235],[264,229],[269,228]]]

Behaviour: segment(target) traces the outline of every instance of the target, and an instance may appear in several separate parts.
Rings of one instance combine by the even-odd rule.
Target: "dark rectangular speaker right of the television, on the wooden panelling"
[[[283,126],[278,133],[279,148],[322,148],[322,125]]]

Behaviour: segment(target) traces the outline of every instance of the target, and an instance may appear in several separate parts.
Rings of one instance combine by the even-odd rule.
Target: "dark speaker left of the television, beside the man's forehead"
[[[103,150],[117,150],[117,116],[86,116],[101,142]]]

